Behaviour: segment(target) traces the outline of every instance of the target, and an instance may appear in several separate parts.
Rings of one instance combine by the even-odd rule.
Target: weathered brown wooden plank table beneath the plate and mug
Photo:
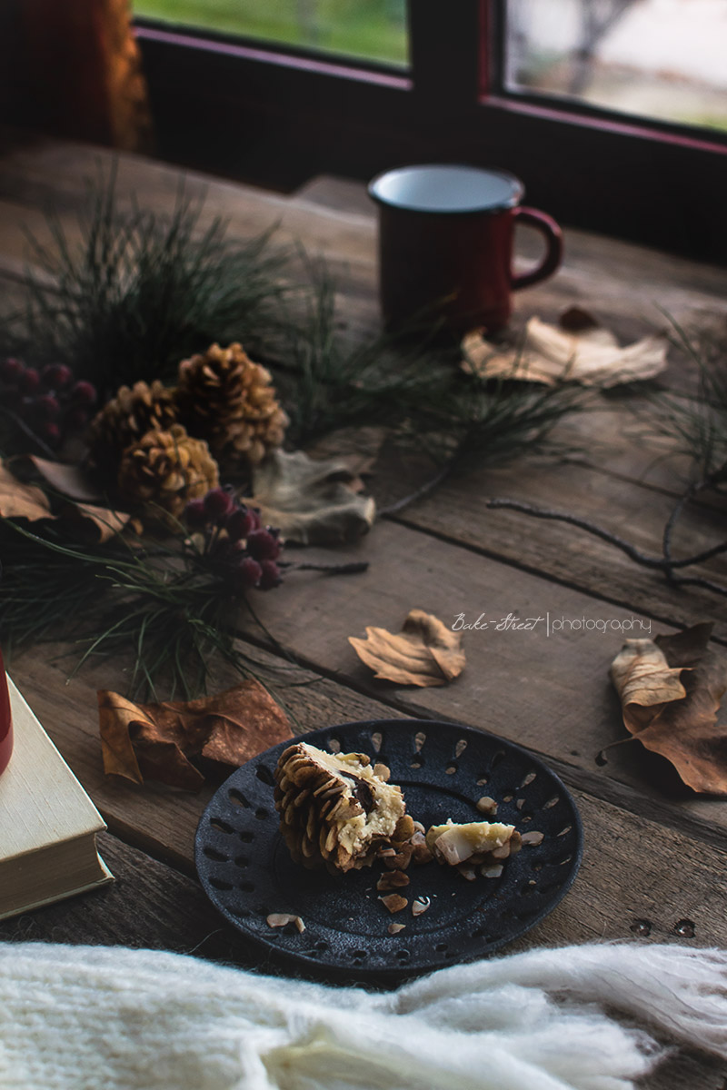
[[[0,158],[0,277],[22,293],[23,234],[43,234],[41,208],[53,198],[64,218],[84,202],[84,178],[109,156],[66,143],[7,142]],[[179,172],[123,156],[119,191],[168,207]],[[371,330],[375,303],[375,223],[363,187],[318,179],[292,196],[189,178],[207,187],[204,217],[221,213],[240,237],[280,221],[280,237],[325,255],[340,290],[340,313],[352,331]],[[516,320],[553,319],[572,303],[593,310],[625,341],[662,328],[658,307],[679,320],[727,317],[724,270],[675,259],[608,239],[567,232],[559,274],[518,298]],[[688,389],[677,358],[668,377]],[[305,686],[286,690],[301,730],[368,717],[448,718],[499,732],[543,755],[569,785],[581,810],[585,853],[560,906],[518,946],[649,935],[655,942],[727,943],[727,802],[679,790],[674,777],[638,744],[617,747],[608,763],[596,754],[623,737],[608,677],[619,632],[469,632],[464,675],[445,689],[395,688],[372,680],[349,635],[365,625],[397,630],[420,606],[445,621],[464,613],[490,618],[637,618],[652,633],[714,620],[727,642],[725,600],[675,590],[595,537],[558,522],[490,511],[490,496],[566,508],[596,519],[658,553],[661,533],[679,493],[675,463],[656,460],[639,441],[623,400],[601,398],[586,417],[561,425],[560,438],[581,453],[560,462],[522,458],[506,468],[452,476],[431,498],[377,523],[348,552],[371,562],[365,574],[293,581],[259,608],[279,649],[252,626],[240,638],[272,675]],[[401,494],[407,482],[397,481]],[[372,482],[378,499],[392,481]],[[724,538],[707,505],[681,524],[677,548]],[[316,556],[325,550],[315,550]],[[705,569],[725,582],[724,556]],[[451,619],[451,620],[450,620]],[[628,634],[628,633],[627,633]],[[281,657],[281,651],[287,658]],[[291,674],[290,659],[295,668]],[[143,789],[106,779],[97,735],[97,688],[123,689],[119,664],[96,663],[66,685],[73,652],[44,646],[12,664],[15,681],[108,823],[102,853],[117,883],[0,925],[2,940],[51,940],[152,946],[251,964],[250,950],[206,900],[193,864],[193,837],[209,797]],[[723,714],[723,724],[727,719]],[[727,1069],[682,1055],[662,1068],[654,1087],[724,1088]]]

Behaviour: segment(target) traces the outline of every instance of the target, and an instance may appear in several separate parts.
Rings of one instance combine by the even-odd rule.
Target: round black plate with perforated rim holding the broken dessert
[[[498,803],[498,822],[543,833],[523,846],[498,879],[467,882],[437,863],[410,867],[409,906],[390,916],[377,899],[380,867],[340,876],[294,863],[278,831],[272,773],[290,742],[238,768],[202,815],[196,864],[213,903],[241,932],[296,962],[299,971],[364,979],[427,972],[489,954],[538,923],[565,896],[582,852],[575,804],[558,779],[525,750],[493,735],[431,719],[347,723],[295,741],[320,749],[367,753],[391,770],[407,810],[426,827],[448,818],[482,821],[476,801]],[[411,912],[416,896],[429,909]],[[270,912],[300,916],[305,931],[271,929]],[[390,923],[405,928],[388,933]]]

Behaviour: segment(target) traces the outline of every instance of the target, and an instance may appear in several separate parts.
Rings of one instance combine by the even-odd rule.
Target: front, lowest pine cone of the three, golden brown
[[[181,424],[147,432],[129,447],[119,468],[119,489],[135,504],[155,504],[174,518],[190,499],[219,484],[217,462],[203,439],[192,439]]]

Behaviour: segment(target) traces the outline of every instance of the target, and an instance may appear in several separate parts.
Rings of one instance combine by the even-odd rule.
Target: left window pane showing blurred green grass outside
[[[134,11],[183,26],[407,63],[405,0],[135,0]]]

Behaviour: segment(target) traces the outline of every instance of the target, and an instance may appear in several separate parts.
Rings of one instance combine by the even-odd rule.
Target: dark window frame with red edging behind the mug
[[[507,167],[567,225],[727,264],[727,134],[508,90],[505,2],[457,0],[444,19],[443,0],[408,0],[409,69],[137,17],[159,152],[280,189]]]

